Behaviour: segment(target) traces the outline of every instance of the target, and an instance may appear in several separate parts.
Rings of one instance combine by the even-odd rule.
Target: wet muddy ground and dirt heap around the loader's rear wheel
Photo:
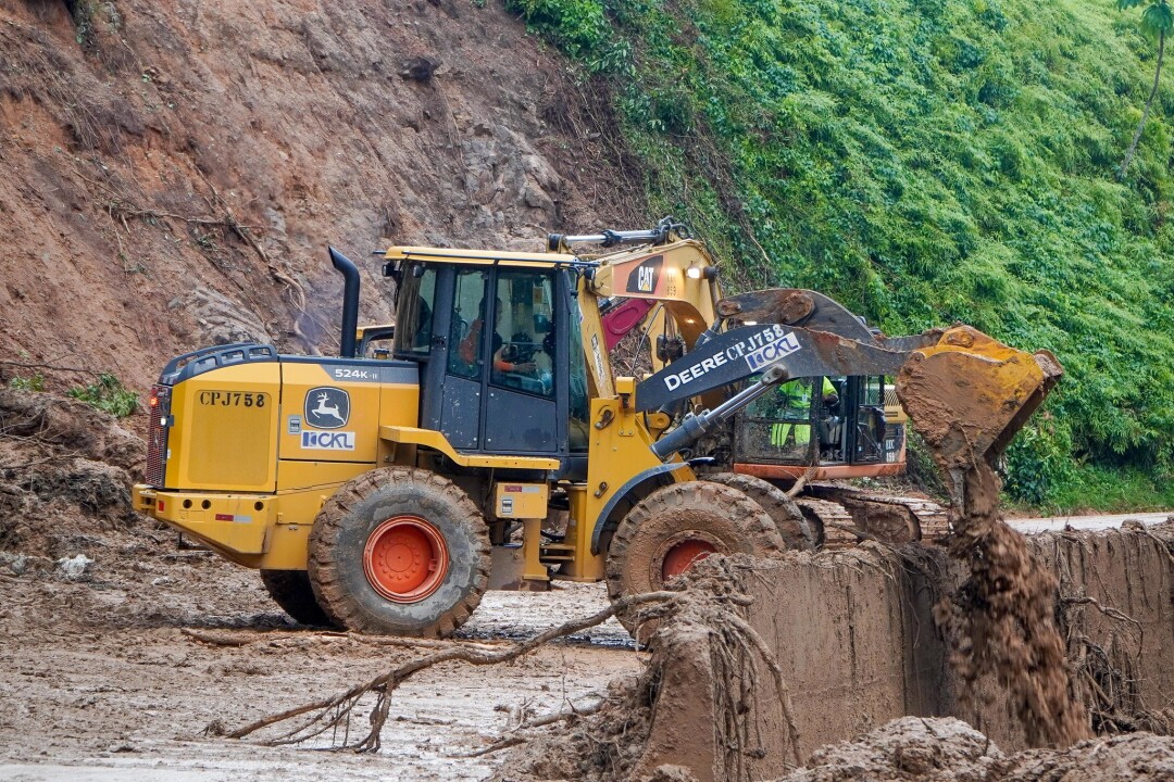
[[[513,665],[444,665],[406,682],[377,755],[205,735],[345,689],[436,644],[500,648],[594,613],[606,591],[491,592],[464,640],[433,645],[297,626],[256,572],[180,545],[130,511],[119,464],[141,455],[141,441],[86,404],[0,390],[0,778],[481,778],[501,755],[464,755],[524,718],[591,707],[613,678],[640,671],[612,620]]]

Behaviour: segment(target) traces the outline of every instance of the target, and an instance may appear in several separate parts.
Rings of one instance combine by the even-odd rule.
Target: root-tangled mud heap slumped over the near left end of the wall
[[[753,715],[758,702],[756,685],[763,673],[774,682],[774,703],[796,764],[801,761],[790,689],[767,644],[743,618],[750,598],[743,592],[744,566],[749,557],[708,557],[696,563],[687,578],[677,579],[670,600],[648,603],[639,608],[635,623],[655,621],[649,639],[652,657],[639,678],[613,684],[598,712],[571,728],[537,735],[518,747],[493,778],[498,782],[527,780],[694,780],[688,763],[660,762],[648,750],[648,737],[657,721],[681,726],[674,741],[684,749],[720,747],[714,778],[750,780],[753,759],[765,753],[764,737]],[[704,675],[682,667],[681,660],[708,660]],[[767,671],[763,672],[762,667]],[[666,678],[668,676],[668,678]],[[675,695],[708,686],[708,696],[680,699]],[[708,707],[699,715],[683,709]],[[751,715],[748,719],[747,715]],[[694,735],[695,726],[704,734]]]

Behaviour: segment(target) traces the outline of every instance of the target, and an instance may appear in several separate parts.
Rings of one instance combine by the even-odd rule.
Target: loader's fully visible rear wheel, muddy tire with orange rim
[[[452,482],[391,467],[326,501],[310,532],[308,572],[338,625],[385,635],[451,635],[490,579],[480,511]]]

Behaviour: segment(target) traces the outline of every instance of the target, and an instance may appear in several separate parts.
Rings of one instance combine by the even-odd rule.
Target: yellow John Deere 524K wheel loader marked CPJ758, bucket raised
[[[822,379],[841,382],[822,396],[877,407],[861,388],[879,401],[892,378],[962,475],[1061,374],[1047,352],[967,326],[885,336],[814,291],[722,297],[706,246],[668,219],[551,236],[542,252],[389,247],[393,327],[358,326],[358,270],[330,254],[345,278],[339,355],[176,356],[150,393],[134,488],[137,510],[259,570],[311,625],[446,637],[487,589],[606,580],[616,598],[715,552],[815,548],[780,485],[722,462],[740,414],[771,447],[811,454]],[[673,314],[681,346],[656,372],[615,376],[601,305],[640,295]],[[807,417],[790,416],[803,400]],[[964,481],[951,487],[965,499]]]

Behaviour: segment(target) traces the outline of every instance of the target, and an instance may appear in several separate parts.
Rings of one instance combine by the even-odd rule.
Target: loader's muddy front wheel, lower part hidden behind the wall
[[[787,544],[756,502],[730,487],[708,481],[674,483],[652,492],[623,517],[607,553],[607,592],[615,600],[655,592],[710,553],[764,556]],[[635,616],[619,617],[637,640]]]

